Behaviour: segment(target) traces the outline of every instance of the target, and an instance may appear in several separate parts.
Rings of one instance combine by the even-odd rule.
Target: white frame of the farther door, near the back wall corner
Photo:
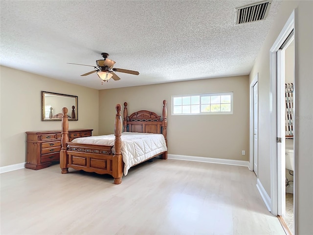
[[[249,170],[253,171],[253,142],[254,142],[254,114],[253,114],[253,87],[259,80],[259,73],[257,72],[253,78],[253,81],[250,83],[250,141],[249,141]]]

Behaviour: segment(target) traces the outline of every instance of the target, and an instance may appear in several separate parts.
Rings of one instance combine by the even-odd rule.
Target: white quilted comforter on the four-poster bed
[[[76,138],[72,142],[114,145],[114,134],[106,136],[90,136]],[[127,175],[129,168],[133,165],[155,156],[158,153],[167,151],[164,136],[162,134],[123,132],[122,156],[124,175]]]

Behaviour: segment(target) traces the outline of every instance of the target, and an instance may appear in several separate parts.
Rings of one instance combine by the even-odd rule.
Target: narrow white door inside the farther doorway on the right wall
[[[253,171],[258,176],[258,82],[253,86]]]

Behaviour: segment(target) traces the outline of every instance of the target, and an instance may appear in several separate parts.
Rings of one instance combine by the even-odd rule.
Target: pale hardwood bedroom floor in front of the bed
[[[0,175],[1,235],[285,234],[246,167],[154,159],[121,185],[60,172],[56,164]]]

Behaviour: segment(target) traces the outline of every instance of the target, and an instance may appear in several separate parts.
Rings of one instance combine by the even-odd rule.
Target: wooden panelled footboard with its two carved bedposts
[[[95,172],[98,174],[110,174],[114,178],[114,184],[122,183],[123,167],[121,153],[122,118],[120,104],[116,105],[114,145],[115,154],[112,154],[112,147],[100,144],[85,144],[68,142],[68,117],[67,108],[63,108],[62,118],[62,148],[60,151],[61,173],[68,173],[68,167],[76,170]]]

